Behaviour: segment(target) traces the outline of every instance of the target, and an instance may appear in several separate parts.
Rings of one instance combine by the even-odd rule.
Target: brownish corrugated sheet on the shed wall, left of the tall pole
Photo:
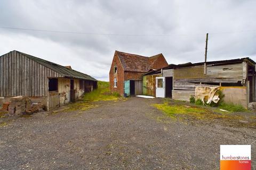
[[[204,65],[196,65],[174,69],[174,79],[205,78]]]

